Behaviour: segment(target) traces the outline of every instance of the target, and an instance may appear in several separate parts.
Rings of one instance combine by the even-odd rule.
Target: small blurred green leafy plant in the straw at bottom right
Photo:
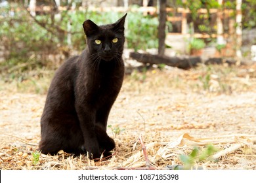
[[[179,169],[185,169],[185,170],[192,169],[196,163],[200,161],[208,160],[209,157],[215,154],[215,152],[217,151],[218,149],[211,144],[207,145],[206,148],[203,148],[201,151],[198,147],[194,147],[194,149],[192,150],[192,152],[190,152],[190,154],[188,155],[182,154],[179,156],[183,164],[183,166],[179,167]]]

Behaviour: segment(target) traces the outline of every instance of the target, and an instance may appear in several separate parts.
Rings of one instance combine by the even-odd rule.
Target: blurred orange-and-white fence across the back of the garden
[[[60,11],[76,11],[77,8],[68,7],[58,7]],[[81,11],[94,11],[94,12],[139,12],[144,16],[151,15],[152,17],[158,16],[157,7],[79,7],[78,10]],[[50,12],[51,7],[42,6],[36,7],[37,12]],[[167,31],[166,44],[167,46],[173,47],[175,42],[171,40],[179,39],[179,42],[183,42],[183,47],[188,46],[187,42],[191,38],[204,39],[207,42],[207,39],[216,39],[215,44],[217,45],[217,50],[219,46],[222,50],[218,50],[218,56],[234,56],[236,54],[236,48],[234,45],[239,44],[241,46],[242,40],[241,35],[238,35],[238,32],[235,29],[236,18],[234,16],[234,10],[231,9],[220,9],[220,8],[211,8],[207,10],[206,8],[200,8],[197,13],[198,20],[192,20],[191,11],[188,8],[166,8],[167,11],[167,22],[171,25]],[[203,16],[205,14],[210,14],[209,24],[203,25],[204,21]],[[127,20],[129,21],[129,19]],[[190,25],[193,23],[193,25]],[[174,38],[175,37],[175,38]],[[183,40],[183,41],[182,41]],[[237,42],[239,40],[240,42]],[[209,41],[208,41],[209,42]],[[180,48],[186,52],[186,48]],[[180,50],[180,51],[181,51]]]

